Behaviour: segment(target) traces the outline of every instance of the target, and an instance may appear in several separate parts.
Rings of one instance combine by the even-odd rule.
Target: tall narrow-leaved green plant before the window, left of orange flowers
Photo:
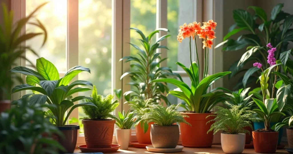
[[[151,32],[146,37],[139,29],[130,29],[135,30],[137,33],[139,33],[139,35],[141,36],[141,39],[139,39],[139,41],[144,49],[139,48],[133,43],[129,43],[139,51],[137,53],[138,56],[126,56],[120,59],[120,61],[125,60],[125,62],[131,62],[131,70],[129,72],[125,72],[120,78],[122,79],[123,77],[130,76],[133,81],[127,83],[133,86],[134,90],[124,93],[126,100],[130,101],[133,98],[152,98],[154,99],[154,101],[164,100],[166,104],[169,104],[167,97],[164,95],[164,92],[169,91],[167,85],[154,82],[150,83],[151,80],[167,77],[179,77],[182,81],[180,75],[178,75],[177,73],[173,73],[169,67],[160,67],[161,62],[165,61],[167,58],[161,59],[161,53],[156,52],[156,49],[159,48],[168,49],[166,46],[160,45],[159,43],[170,35],[164,35],[158,38],[158,40],[156,40],[156,42],[151,45],[151,40],[156,33],[159,33],[159,31],[168,32],[169,30],[166,28],[159,28]]]

